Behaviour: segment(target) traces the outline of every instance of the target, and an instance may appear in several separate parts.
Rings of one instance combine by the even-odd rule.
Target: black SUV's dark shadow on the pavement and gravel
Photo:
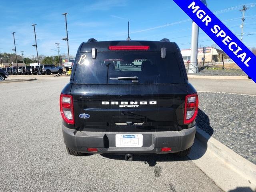
[[[207,133],[211,136],[214,132],[212,127],[210,126],[210,120],[208,116],[202,111],[198,110],[198,116],[196,118],[196,124],[197,126],[202,129],[207,131]],[[210,138],[210,137],[209,137]],[[204,146],[196,146],[197,144],[195,143],[192,146],[192,150],[188,157],[178,157],[175,156],[175,154],[153,154],[153,155],[134,155],[133,161],[142,161],[145,164],[148,164],[149,166],[155,166],[157,162],[172,162],[172,161],[188,161],[188,160],[196,160],[201,158],[204,153],[207,150],[207,141],[204,144]],[[116,159],[116,160],[125,160],[124,155],[111,155],[111,154],[102,154],[101,156],[105,158],[110,158],[110,159]]]

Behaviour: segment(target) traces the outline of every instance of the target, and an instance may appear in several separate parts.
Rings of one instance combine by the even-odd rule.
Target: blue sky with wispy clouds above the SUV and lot
[[[240,9],[246,4],[244,44],[256,47],[256,0],[208,0],[208,8],[240,37]],[[181,49],[190,48],[191,20],[172,0],[1,0],[0,51],[13,52],[12,32],[16,32],[16,50],[25,56],[36,55],[34,30],[36,23],[38,54],[56,55],[67,52],[65,18],[68,12],[70,54],[75,55],[81,42],[97,40],[125,40],[130,21],[132,40],[160,40],[169,38]],[[212,40],[200,30],[199,45],[211,46]],[[53,50],[52,50],[53,49]]]

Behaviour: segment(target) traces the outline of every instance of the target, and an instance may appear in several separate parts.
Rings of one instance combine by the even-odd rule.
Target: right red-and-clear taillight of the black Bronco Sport
[[[185,99],[184,124],[192,123],[198,113],[198,95],[190,94]]]

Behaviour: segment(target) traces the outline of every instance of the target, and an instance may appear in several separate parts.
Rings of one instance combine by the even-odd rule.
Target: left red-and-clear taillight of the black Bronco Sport
[[[60,113],[68,124],[74,124],[73,98],[71,95],[60,94]]]

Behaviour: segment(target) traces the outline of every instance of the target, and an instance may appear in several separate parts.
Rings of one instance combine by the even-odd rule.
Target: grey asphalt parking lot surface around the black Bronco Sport
[[[0,84],[1,191],[222,191],[188,158],[70,156],[59,94],[68,78]]]

